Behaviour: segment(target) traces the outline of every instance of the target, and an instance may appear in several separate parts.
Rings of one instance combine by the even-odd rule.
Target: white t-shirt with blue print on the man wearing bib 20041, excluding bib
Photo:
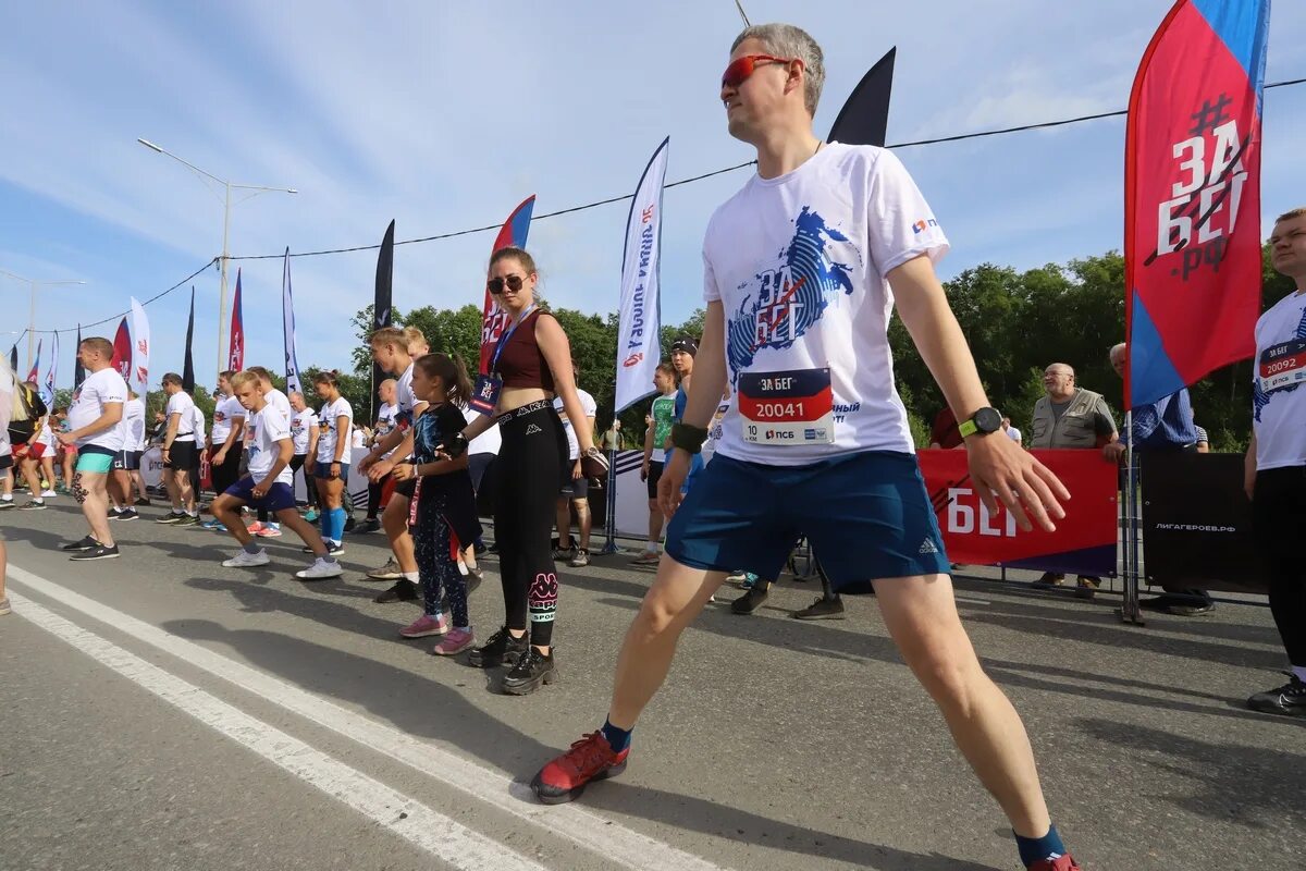
[[[748,441],[737,396],[717,453],[776,466],[913,453],[893,385],[885,276],[947,251],[921,191],[885,149],[832,142],[793,172],[750,179],[716,210],[703,242],[704,298],[725,308],[729,384],[737,392],[743,373],[828,367],[833,434],[828,444],[814,430],[788,444]]]

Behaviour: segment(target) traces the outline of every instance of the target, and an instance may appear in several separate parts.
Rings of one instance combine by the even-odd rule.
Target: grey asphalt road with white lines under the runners
[[[996,804],[902,666],[875,599],[849,619],[709,609],[686,633],[631,765],[576,804],[524,786],[603,721],[652,573],[562,569],[562,682],[528,697],[402,641],[375,605],[381,534],[304,584],[299,542],[225,569],[214,533],[115,525],[123,558],[69,563],[68,499],[8,511],[0,618],[0,868],[1017,868]],[[471,597],[503,615],[495,563]],[[737,595],[726,590],[726,597]],[[966,626],[1034,742],[1085,868],[1306,867],[1306,722],[1242,706],[1284,667],[1268,610],[1119,623],[1083,602],[959,580]]]

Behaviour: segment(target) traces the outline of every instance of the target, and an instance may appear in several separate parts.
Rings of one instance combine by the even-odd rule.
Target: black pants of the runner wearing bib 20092
[[[1306,528],[1306,466],[1256,473],[1252,526],[1269,577],[1269,610],[1288,659],[1306,666],[1306,568],[1301,534]]]

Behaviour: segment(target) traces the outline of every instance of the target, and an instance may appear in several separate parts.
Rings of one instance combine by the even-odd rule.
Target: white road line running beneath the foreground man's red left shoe
[[[461,790],[515,817],[565,838],[610,864],[640,871],[726,871],[669,844],[641,834],[579,804],[539,804],[530,787],[462,756],[341,708],[279,678],[251,669],[191,641],[116,611],[29,571],[9,565],[9,577],[76,611],[170,653],[185,662],[252,692],[276,705],[329,729],[363,747],[381,752],[441,784]],[[541,760],[543,764],[546,760]]]

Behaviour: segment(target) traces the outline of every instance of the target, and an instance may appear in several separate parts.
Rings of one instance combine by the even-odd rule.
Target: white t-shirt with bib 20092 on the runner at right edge
[[[1306,465],[1306,294],[1280,299],[1256,321],[1252,379],[1256,469]]]

